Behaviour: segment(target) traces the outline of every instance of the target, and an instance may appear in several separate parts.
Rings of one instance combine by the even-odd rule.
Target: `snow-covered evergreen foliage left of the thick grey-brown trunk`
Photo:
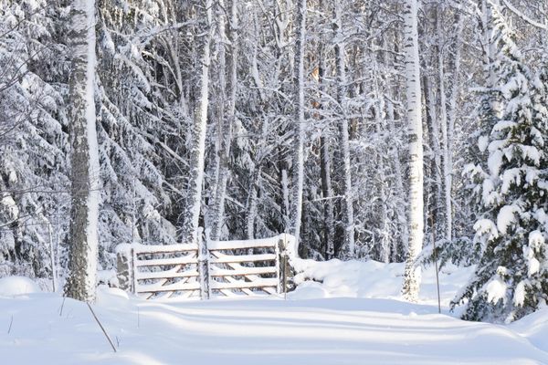
[[[48,228],[68,213],[67,15],[57,1],[0,9],[0,276],[47,277]]]

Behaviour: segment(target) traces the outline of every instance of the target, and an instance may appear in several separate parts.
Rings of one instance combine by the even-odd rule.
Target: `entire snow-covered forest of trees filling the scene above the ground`
[[[547,2],[0,5],[0,275],[59,271],[90,300],[116,245],[204,227],[406,260],[410,300],[432,254],[479,263],[469,318],[542,303]],[[497,254],[516,233],[522,274]]]

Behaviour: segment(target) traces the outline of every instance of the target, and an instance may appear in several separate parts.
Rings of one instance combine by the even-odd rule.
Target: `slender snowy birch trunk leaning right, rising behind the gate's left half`
[[[209,104],[209,64],[211,61],[209,45],[211,42],[212,24],[212,0],[205,0],[205,26],[204,34],[200,36],[199,49],[202,57],[202,72],[197,89],[199,99],[195,107],[194,123],[192,126],[191,151],[190,151],[190,176],[188,181],[188,200],[184,207],[183,242],[196,243],[198,224],[200,219],[200,207],[202,203],[202,183],[204,182],[204,155],[205,155],[205,131],[207,129],[207,108]]]

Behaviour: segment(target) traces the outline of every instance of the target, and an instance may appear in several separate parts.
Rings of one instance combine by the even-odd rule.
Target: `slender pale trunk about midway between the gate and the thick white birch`
[[[344,55],[344,39],[342,34],[342,4],[335,1],[333,7],[333,30],[335,36],[335,57],[337,67],[337,101],[342,109],[342,120],[339,123],[339,141],[342,155],[342,194],[344,196],[342,207],[342,224],[344,224],[344,243],[342,251],[348,258],[353,258],[354,247],[354,223],[353,223],[353,192],[352,172],[350,167],[350,145],[348,127],[349,122],[345,117],[344,100],[346,99],[346,66]]]

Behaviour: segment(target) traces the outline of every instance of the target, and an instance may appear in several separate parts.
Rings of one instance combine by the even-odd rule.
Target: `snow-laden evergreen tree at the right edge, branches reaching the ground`
[[[500,9],[493,5],[492,11],[500,49],[494,69],[505,107],[490,132],[489,171],[481,185],[483,213],[474,225],[481,258],[453,306],[468,299],[463,318],[511,321],[545,303],[548,289],[546,85],[543,74],[533,78],[522,62]],[[492,112],[484,115],[489,118]]]

